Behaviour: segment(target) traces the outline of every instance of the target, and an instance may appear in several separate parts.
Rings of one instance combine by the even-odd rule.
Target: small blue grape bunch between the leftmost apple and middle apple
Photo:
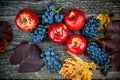
[[[30,39],[34,43],[39,43],[47,36],[46,29],[43,25],[38,25],[38,27],[30,33]]]

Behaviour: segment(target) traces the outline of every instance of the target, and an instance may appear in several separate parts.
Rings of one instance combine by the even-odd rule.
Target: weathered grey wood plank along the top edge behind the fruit
[[[23,8],[33,9],[37,14],[42,14],[46,6],[50,3],[55,3],[56,6],[64,5],[66,8],[63,12],[66,12],[71,8],[78,8],[83,10],[86,14],[110,12],[120,13],[120,6],[116,6],[115,3],[110,1],[67,1],[64,0],[51,0],[51,1],[1,1],[0,2],[0,15],[16,15],[17,12]],[[87,4],[88,3],[88,4]],[[44,4],[44,5],[43,5]],[[116,3],[119,5],[120,3]],[[9,12],[8,12],[9,11]]]

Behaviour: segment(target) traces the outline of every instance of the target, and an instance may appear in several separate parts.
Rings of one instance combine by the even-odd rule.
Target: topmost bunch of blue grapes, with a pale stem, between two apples
[[[51,4],[47,7],[46,11],[42,15],[42,24],[53,24],[63,22],[64,15],[60,15],[55,11],[55,5]]]

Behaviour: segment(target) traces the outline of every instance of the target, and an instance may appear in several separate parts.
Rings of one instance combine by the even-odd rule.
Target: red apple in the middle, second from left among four
[[[65,24],[54,23],[48,29],[48,37],[51,41],[61,44],[65,42],[69,34],[69,31]]]

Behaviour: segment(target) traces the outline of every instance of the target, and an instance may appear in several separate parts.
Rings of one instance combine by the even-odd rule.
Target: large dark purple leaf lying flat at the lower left
[[[41,49],[29,42],[22,42],[9,53],[9,62],[19,64],[18,72],[34,72],[44,66],[40,58]]]

